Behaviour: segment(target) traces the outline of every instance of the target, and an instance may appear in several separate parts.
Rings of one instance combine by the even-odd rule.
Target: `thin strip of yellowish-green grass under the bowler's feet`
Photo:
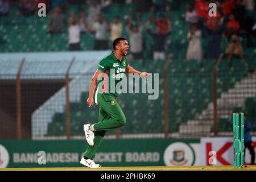
[[[0,168],[13,171],[256,171],[256,166],[234,168],[233,166],[142,166],[142,167],[49,167],[49,168]]]

